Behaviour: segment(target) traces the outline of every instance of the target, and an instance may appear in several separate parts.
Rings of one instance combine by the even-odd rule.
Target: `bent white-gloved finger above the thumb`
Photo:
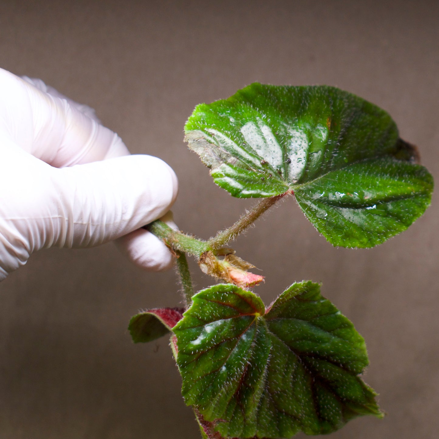
[[[0,130],[54,167],[129,154],[123,141],[65,98],[0,69]]]

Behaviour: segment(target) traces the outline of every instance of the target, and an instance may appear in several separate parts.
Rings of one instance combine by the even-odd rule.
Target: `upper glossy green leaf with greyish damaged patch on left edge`
[[[432,176],[388,113],[335,87],[254,83],[198,105],[185,133],[215,183],[240,198],[292,189],[334,245],[380,244],[430,203]]]

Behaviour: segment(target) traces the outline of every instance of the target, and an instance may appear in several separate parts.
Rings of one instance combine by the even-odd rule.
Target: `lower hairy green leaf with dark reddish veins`
[[[225,438],[316,435],[381,416],[358,376],[364,340],[318,284],[293,284],[267,313],[252,292],[215,285],[193,296],[173,331],[185,402]]]

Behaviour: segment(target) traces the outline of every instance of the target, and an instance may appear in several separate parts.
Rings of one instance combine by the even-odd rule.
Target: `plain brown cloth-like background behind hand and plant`
[[[251,202],[211,182],[183,125],[196,104],[253,81],[329,84],[378,104],[437,179],[438,23],[437,1],[3,0],[0,65],[167,161],[176,222],[207,238]],[[294,280],[323,282],[366,339],[366,381],[388,416],[330,437],[437,437],[438,218],[435,194],[387,243],[333,248],[290,198],[236,242],[267,276],[265,302]],[[126,330],[139,308],[177,305],[177,290],[174,273],[143,273],[112,244],[33,255],[0,285],[0,439],[198,438],[167,339],[133,345]]]

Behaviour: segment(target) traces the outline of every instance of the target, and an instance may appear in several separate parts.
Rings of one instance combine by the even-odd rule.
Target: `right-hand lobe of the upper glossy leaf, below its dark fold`
[[[333,245],[364,248],[406,230],[430,204],[432,187],[424,167],[383,157],[328,173],[294,193]]]

